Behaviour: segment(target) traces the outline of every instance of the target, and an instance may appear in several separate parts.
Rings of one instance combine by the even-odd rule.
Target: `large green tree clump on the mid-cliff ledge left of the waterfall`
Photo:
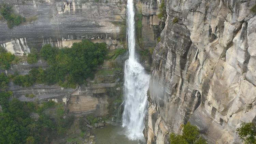
[[[37,55],[35,56],[37,61],[38,54],[31,53]],[[40,56],[47,61],[49,67],[46,70],[33,68],[24,76],[14,75],[13,82],[23,87],[30,87],[37,82],[46,85],[58,83],[62,87],[75,88],[77,84],[83,84],[87,78],[94,77],[95,70],[99,64],[103,63],[105,55],[105,43],[95,44],[83,40],[74,43],[71,48],[62,49],[47,44],[42,47]]]

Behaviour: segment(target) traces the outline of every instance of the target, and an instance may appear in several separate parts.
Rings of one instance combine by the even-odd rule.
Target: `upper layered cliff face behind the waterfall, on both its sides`
[[[13,5],[13,11],[27,19],[12,29],[0,19],[0,46],[16,55],[44,44],[70,47],[84,38],[105,42],[110,49],[126,41],[126,0],[0,0],[2,3]],[[158,2],[136,3],[143,15],[141,43],[154,47],[159,36]]]

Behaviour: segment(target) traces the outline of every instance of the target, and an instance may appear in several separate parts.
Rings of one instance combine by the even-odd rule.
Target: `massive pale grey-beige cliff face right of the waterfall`
[[[241,143],[235,129],[256,117],[256,1],[165,3],[166,26],[152,56],[147,143],[168,143],[188,121],[209,143]]]

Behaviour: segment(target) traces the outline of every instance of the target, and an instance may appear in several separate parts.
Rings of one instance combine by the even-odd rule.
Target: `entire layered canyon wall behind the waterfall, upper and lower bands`
[[[89,39],[105,42],[108,54],[126,48],[126,0],[0,0],[0,4],[13,5],[13,12],[27,21],[9,29],[7,21],[0,18],[0,46],[12,54],[24,56],[31,48],[38,50],[45,44],[71,47],[74,42]],[[136,11],[142,14],[142,48],[155,47],[159,36],[158,2],[136,2]],[[150,42],[150,43],[148,43]],[[123,66],[128,52],[115,60],[105,60],[95,73],[94,80],[87,80],[76,89],[53,85],[35,84],[20,87],[10,83],[9,90],[21,101],[54,100],[65,102],[69,114],[75,116],[115,116],[122,103]],[[47,68],[45,61],[12,64],[7,73],[18,71],[25,75],[33,67]],[[1,71],[4,72],[4,71]],[[25,97],[33,94],[35,97]],[[118,117],[115,117],[118,119]]]

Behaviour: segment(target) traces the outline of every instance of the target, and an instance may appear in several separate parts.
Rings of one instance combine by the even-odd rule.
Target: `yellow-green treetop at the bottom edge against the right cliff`
[[[169,141],[172,144],[207,144],[200,136],[199,129],[189,122],[183,125],[182,135],[171,133]]]

